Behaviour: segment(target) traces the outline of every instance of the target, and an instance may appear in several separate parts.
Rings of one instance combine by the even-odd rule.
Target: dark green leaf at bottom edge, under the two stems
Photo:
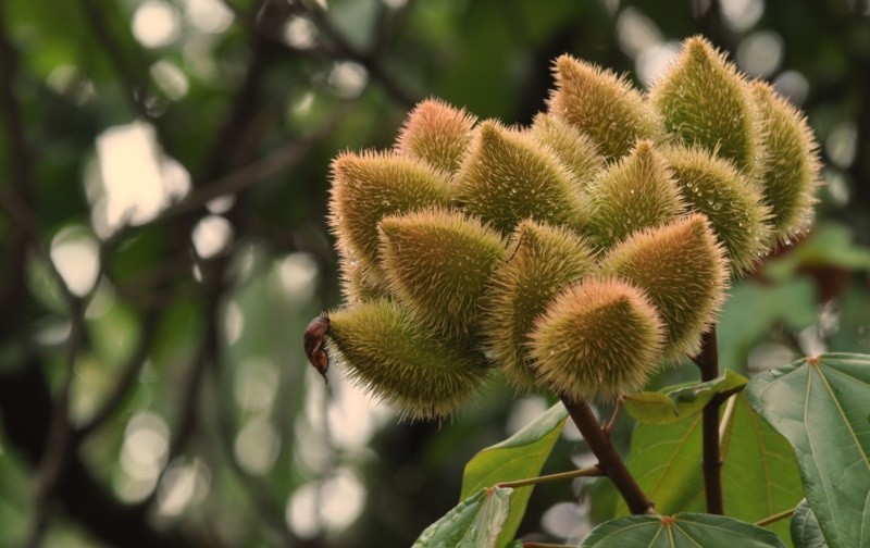
[[[581,548],[644,546],[647,548],[770,548],[784,547],[776,535],[723,515],[683,513],[632,515],[593,530]]]

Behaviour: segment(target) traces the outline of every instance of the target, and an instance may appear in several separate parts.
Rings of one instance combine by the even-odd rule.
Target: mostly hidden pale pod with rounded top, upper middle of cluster
[[[561,119],[538,113],[531,133],[537,142],[550,148],[581,185],[585,186],[605,167],[595,141]]]

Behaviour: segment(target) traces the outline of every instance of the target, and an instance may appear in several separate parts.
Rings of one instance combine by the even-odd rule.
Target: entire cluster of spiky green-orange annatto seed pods
[[[347,306],[327,349],[403,415],[518,390],[608,400],[699,350],[729,279],[808,228],[804,116],[691,38],[648,94],[569,55],[531,127],[420,103],[332,165]]]

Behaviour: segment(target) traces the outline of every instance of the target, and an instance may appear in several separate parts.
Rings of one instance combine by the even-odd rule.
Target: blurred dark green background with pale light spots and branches
[[[825,163],[813,232],[731,289],[723,363],[870,352],[867,0],[3,0],[0,546],[410,546],[548,402],[494,378],[409,423],[324,387],[331,159],[430,96],[526,124],[563,52],[648,86],[698,33]],[[562,437],[545,472],[589,463]],[[575,541],[613,500],[542,486],[520,532]]]

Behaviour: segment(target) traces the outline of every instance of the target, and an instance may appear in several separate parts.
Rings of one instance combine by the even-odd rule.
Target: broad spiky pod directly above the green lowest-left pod
[[[477,301],[505,260],[505,242],[476,219],[425,210],[381,221],[382,258],[394,295],[423,323],[475,335]]]

